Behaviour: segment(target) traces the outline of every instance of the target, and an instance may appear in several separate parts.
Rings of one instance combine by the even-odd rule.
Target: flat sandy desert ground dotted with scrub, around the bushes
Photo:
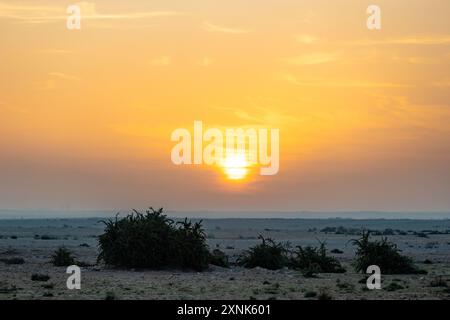
[[[181,271],[115,270],[96,265],[97,239],[103,226],[98,219],[53,219],[0,221],[0,260],[21,257],[24,264],[0,262],[0,299],[317,299],[308,295],[328,293],[333,299],[450,299],[447,287],[432,285],[440,277],[450,286],[450,234],[419,237],[412,232],[444,231],[450,221],[353,221],[353,220],[207,220],[204,222],[211,248],[219,247],[231,259],[258,242],[258,234],[293,245],[318,244],[340,249],[336,257],[347,268],[345,274],[320,274],[306,278],[283,269],[224,269],[211,266],[202,273]],[[393,228],[411,231],[394,235],[405,254],[413,257],[427,275],[383,275],[381,290],[368,290],[360,283],[362,274],[351,267],[354,248],[348,243],[357,236],[320,232],[324,227]],[[44,240],[50,238],[48,240]],[[82,267],[81,290],[69,290],[63,267],[49,263],[53,251],[65,245]],[[82,246],[80,246],[82,245]],[[424,264],[429,259],[432,264]],[[46,274],[47,281],[32,281],[33,273]],[[398,289],[389,291],[392,283]]]

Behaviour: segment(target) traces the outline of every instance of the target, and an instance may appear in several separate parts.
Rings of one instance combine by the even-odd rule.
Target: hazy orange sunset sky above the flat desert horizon
[[[450,211],[450,2],[0,0],[0,208]],[[276,175],[171,161],[276,128]]]

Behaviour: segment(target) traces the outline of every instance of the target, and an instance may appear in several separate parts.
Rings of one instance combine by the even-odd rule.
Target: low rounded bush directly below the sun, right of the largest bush
[[[277,270],[288,266],[288,249],[282,243],[276,243],[272,239],[264,239],[259,236],[262,243],[245,251],[237,260],[238,265],[245,268],[261,267],[269,270]]]

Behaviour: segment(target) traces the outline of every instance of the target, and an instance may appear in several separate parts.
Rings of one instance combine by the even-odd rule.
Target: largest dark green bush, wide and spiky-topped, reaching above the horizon
[[[102,221],[106,227],[99,236],[98,261],[125,268],[208,267],[210,253],[201,221],[175,223],[162,208],[145,214],[133,211],[122,219]]]

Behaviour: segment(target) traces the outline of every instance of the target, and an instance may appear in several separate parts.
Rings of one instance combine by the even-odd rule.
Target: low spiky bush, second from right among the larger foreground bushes
[[[340,262],[327,254],[324,242],[321,242],[319,247],[298,246],[292,254],[291,266],[302,271],[305,276],[312,276],[314,273],[345,272]]]

